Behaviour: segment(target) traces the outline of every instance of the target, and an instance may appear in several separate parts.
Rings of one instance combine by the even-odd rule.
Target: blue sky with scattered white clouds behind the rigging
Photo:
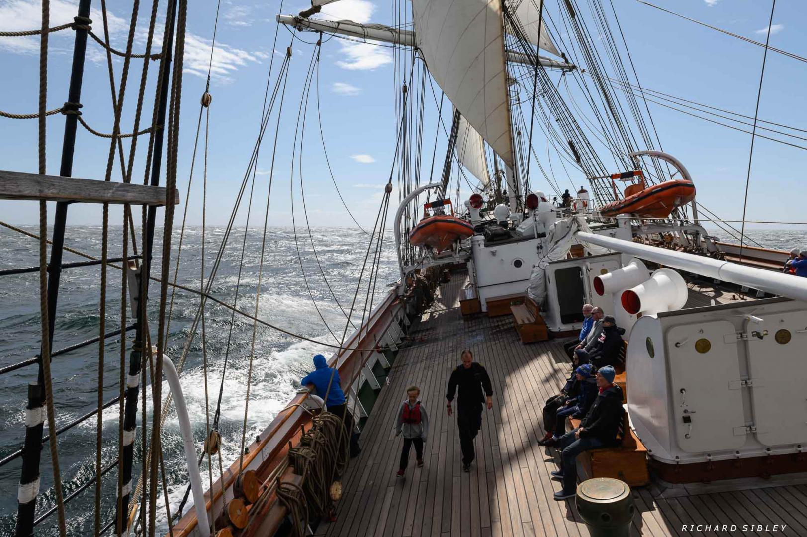
[[[405,2],[408,6],[408,2]],[[693,19],[725,28],[740,36],[764,41],[770,4],[751,0],[656,0],[659,6],[674,10]],[[52,0],[52,26],[67,23],[75,15],[77,2]],[[608,0],[603,0],[610,13]],[[99,8],[100,4],[94,2]],[[134,49],[145,48],[145,31],[150,6],[141,4]],[[743,115],[753,116],[763,61],[763,48],[747,44],[734,37],[698,26],[684,19],[668,15],[635,0],[613,0],[613,6],[625,30],[625,39],[642,86],[666,94],[705,103]],[[207,78],[211,39],[215,24],[215,2],[191,2],[186,40],[186,60],[183,78],[183,103],[178,159],[178,188],[182,202],[177,219],[188,210],[189,224],[199,224],[203,218],[203,139],[204,121],[199,153],[194,166],[193,188],[186,199],[186,187],[194,152],[194,135],[199,119],[199,99]],[[266,90],[266,76],[274,58],[272,86],[279,62],[286,47],[292,48],[292,58],[278,145],[274,159],[273,191],[268,221],[270,225],[291,225],[291,209],[295,209],[295,222],[304,225],[303,210],[307,211],[312,226],[353,226],[353,219],[345,211],[328,173],[319,136],[316,101],[312,96],[305,117],[307,119],[303,156],[299,144],[292,161],[295,122],[300,116],[300,98],[304,88],[307,66],[312,56],[316,34],[298,34],[304,41],[292,42],[291,31],[277,29],[275,44],[275,15],[278,12],[294,15],[308,6],[305,0],[280,2],[248,2],[222,0],[215,36],[211,69],[212,104],[210,108],[210,139],[207,153],[207,224],[226,224],[235,203],[240,182],[247,170],[249,157],[258,132],[261,107]],[[125,49],[131,2],[109,2],[111,42],[119,50]],[[27,30],[40,26],[40,3],[32,0],[0,0],[0,30]],[[547,0],[550,13],[558,10],[558,0]],[[165,10],[161,2],[160,13]],[[807,5],[794,0],[777,2],[771,25],[771,46],[801,56],[807,55],[803,32],[798,26],[805,20]],[[370,0],[341,0],[326,6],[329,19],[351,19],[360,23],[394,22],[391,3]],[[93,10],[94,31],[102,36],[102,17]],[[161,16],[158,16],[161,28]],[[161,31],[161,30],[159,30]],[[566,36],[568,38],[568,36]],[[0,65],[4,77],[0,86],[0,110],[14,113],[36,111],[38,96],[38,37],[0,38]],[[157,40],[159,41],[159,40]],[[67,97],[73,31],[51,34],[48,60],[48,109],[61,107]],[[82,117],[100,132],[112,130],[112,104],[106,54],[94,41],[88,46],[84,86],[82,90]],[[574,58],[571,58],[574,60]],[[119,82],[123,61],[115,58],[116,83]],[[131,132],[136,95],[143,63],[133,61],[123,109],[123,128]],[[320,59],[320,114],[322,129],[334,180],[345,204],[362,226],[372,227],[383,187],[390,177],[395,157],[397,116],[395,111],[396,69],[390,48],[373,44],[331,39],[322,45]],[[147,95],[153,95],[157,63],[150,64]],[[551,75],[558,80],[558,73]],[[807,128],[807,108],[803,95],[807,86],[807,65],[783,55],[768,52],[759,118]],[[315,81],[316,87],[316,81]],[[428,87],[428,86],[427,86]],[[427,90],[424,108],[424,150],[421,173],[429,174],[433,154],[435,170],[440,170],[445,155],[445,134],[438,130],[437,105]],[[438,95],[439,99],[439,95]],[[742,218],[746,172],[751,136],[710,124],[650,103],[650,111],[658,129],[663,149],[684,162],[698,189],[698,200],[717,215],[727,220]],[[146,99],[144,120],[150,120],[152,102]],[[444,107],[443,121],[450,122],[449,107]],[[61,155],[61,136],[64,117],[54,115],[48,119],[49,174],[58,174]],[[768,125],[770,126],[770,125]],[[255,199],[250,225],[262,225],[276,118],[270,119],[257,165]],[[750,128],[749,128],[750,129]],[[805,132],[791,131],[807,138]],[[437,140],[437,148],[434,141]],[[536,136],[535,147],[546,146],[546,138]],[[807,141],[788,138],[797,145],[807,147]],[[145,149],[148,138],[143,136],[136,152],[133,181],[142,182]],[[102,179],[106,173],[109,141],[92,136],[79,128],[73,175]],[[129,144],[124,144],[128,154]],[[435,150],[436,149],[436,150]],[[546,150],[537,150],[541,165],[552,168],[562,188],[579,187],[583,177],[579,171],[562,171],[557,157],[547,157]],[[604,157],[604,155],[603,155]],[[604,162],[608,162],[603,158]],[[305,208],[300,198],[299,165],[302,162]],[[295,166],[294,199],[291,201],[291,166]],[[0,169],[36,172],[37,127],[36,120],[6,120],[0,118]],[[751,166],[748,191],[747,220],[776,220],[804,222],[807,153],[776,142],[757,138]],[[533,170],[535,163],[533,162]],[[624,171],[624,170],[611,170]],[[112,170],[112,180],[121,180],[118,162]],[[397,187],[397,175],[395,185]],[[550,185],[534,176],[533,188],[551,192]],[[470,189],[462,187],[460,199],[466,199]],[[398,195],[394,195],[390,211],[394,211]],[[294,203],[294,204],[293,204]],[[52,208],[49,209],[52,216]],[[69,224],[99,224],[98,207],[82,206],[69,210]],[[38,221],[38,205],[34,202],[0,201],[0,220],[14,224],[34,224]],[[119,224],[120,212],[111,211],[111,223]],[[245,210],[237,217],[238,224],[245,222]],[[794,227],[795,224],[776,224],[768,227]],[[750,224],[750,227],[760,227]],[[803,229],[803,226],[801,226]]]

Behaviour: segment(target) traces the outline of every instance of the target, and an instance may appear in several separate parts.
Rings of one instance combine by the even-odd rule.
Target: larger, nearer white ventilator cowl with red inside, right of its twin
[[[689,292],[684,278],[669,268],[660,268],[650,279],[622,292],[622,308],[631,315],[654,315],[684,308]]]

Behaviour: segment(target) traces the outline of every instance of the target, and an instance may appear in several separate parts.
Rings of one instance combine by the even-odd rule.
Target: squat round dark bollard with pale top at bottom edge
[[[610,477],[585,480],[577,485],[576,502],[592,537],[629,537],[636,506],[626,483]]]

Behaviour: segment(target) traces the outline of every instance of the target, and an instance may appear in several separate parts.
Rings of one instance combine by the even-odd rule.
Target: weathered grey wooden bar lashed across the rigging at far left
[[[0,170],[0,199],[161,207],[165,205],[165,187]],[[174,189],[174,205],[178,204],[179,193]]]

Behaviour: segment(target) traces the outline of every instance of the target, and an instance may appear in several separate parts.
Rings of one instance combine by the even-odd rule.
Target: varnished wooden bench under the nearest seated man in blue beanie
[[[580,426],[580,420],[567,418],[567,426],[571,430]],[[578,462],[583,467],[586,479],[593,477],[613,477],[625,481],[632,487],[641,487],[650,483],[647,471],[647,448],[630,428],[628,413],[622,418],[622,426],[618,433],[621,443],[615,447],[600,447],[591,451],[583,451],[578,455]]]

